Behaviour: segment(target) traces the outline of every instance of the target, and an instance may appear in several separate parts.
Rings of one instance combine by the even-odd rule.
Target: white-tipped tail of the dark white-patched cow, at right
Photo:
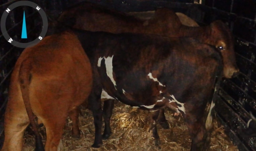
[[[213,93],[213,98],[211,101],[211,105],[210,105],[210,109],[206,118],[206,122],[205,122],[205,128],[206,130],[211,130],[212,129],[212,112],[215,106],[215,102],[218,99],[218,94],[219,94],[219,88],[220,88],[220,83],[223,77],[223,61],[222,61],[222,57],[221,54],[218,53],[218,55],[216,55],[216,60],[218,61],[218,66],[217,66],[217,71],[216,73],[216,79],[215,79],[215,89],[214,89],[214,93]]]

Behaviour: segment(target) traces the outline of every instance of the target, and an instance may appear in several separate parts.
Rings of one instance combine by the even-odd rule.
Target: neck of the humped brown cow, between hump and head
[[[182,25],[179,30],[180,37],[191,37],[195,38],[202,43],[215,45],[212,42],[211,29],[209,26],[204,27],[189,27]]]

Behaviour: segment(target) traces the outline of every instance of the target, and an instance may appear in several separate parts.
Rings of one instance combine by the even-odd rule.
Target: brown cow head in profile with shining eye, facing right
[[[223,74],[225,78],[237,75],[239,69],[234,54],[233,36],[227,25],[217,20],[210,24],[213,45],[221,52],[223,57]]]

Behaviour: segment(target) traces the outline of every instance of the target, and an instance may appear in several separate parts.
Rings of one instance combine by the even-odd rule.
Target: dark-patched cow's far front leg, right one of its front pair
[[[109,99],[104,101],[103,105],[103,117],[104,117],[104,133],[102,135],[102,139],[106,140],[111,135],[111,128],[110,128],[110,118],[112,116],[112,110],[114,108],[114,100]]]

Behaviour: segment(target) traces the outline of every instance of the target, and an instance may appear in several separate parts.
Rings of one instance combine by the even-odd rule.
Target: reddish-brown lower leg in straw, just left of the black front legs
[[[79,122],[78,122],[78,116],[79,116],[79,108],[75,108],[72,111],[69,112],[69,116],[72,119],[72,137],[74,138],[80,138],[80,129],[79,129]]]

